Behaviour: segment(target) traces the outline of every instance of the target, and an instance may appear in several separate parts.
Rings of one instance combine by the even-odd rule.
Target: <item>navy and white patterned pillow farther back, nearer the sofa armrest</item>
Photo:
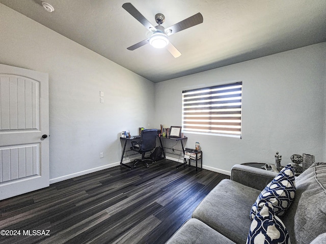
[[[250,210],[250,219],[253,220],[257,212],[268,201],[273,204],[277,216],[284,215],[295,195],[294,167],[291,164],[285,166],[275,178],[269,182],[257,197]]]

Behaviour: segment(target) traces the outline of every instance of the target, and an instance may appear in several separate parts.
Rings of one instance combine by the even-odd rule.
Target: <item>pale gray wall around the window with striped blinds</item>
[[[242,139],[186,134],[188,147],[200,142],[204,168],[275,163],[276,151],[282,164],[303,153],[325,161],[325,57],[320,43],[157,83],[155,126],[181,125],[182,90],[242,81]]]

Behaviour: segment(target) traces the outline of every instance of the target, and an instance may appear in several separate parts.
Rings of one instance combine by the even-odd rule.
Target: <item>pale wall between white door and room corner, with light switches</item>
[[[119,133],[153,127],[154,83],[2,4],[0,23],[0,63],[49,74],[51,183],[118,165]]]

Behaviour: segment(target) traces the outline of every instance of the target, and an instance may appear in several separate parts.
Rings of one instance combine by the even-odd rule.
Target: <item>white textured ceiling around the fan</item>
[[[0,3],[153,82],[326,41],[325,0],[0,0]],[[145,45],[147,29],[121,6],[130,2],[154,26],[198,12],[203,23],[169,37],[182,53]]]

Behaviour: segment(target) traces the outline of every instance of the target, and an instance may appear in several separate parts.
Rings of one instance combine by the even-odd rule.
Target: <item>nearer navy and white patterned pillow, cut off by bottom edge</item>
[[[246,244],[290,244],[289,232],[266,202],[251,223]]]

